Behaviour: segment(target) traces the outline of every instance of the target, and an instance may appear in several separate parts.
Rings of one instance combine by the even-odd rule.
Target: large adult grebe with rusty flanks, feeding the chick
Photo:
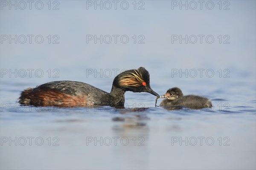
[[[55,81],[22,91],[19,103],[58,107],[123,106],[125,91],[147,92],[159,96],[149,85],[148,71],[140,67],[118,74],[113,80],[110,93],[83,82]]]

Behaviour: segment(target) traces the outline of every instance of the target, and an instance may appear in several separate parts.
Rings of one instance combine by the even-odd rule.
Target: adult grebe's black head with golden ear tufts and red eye
[[[115,77],[113,85],[124,91],[147,92],[154,96],[159,96],[159,94],[151,89],[149,73],[144,67],[120,73]]]

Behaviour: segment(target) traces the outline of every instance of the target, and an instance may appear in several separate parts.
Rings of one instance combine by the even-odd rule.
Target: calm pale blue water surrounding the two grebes
[[[210,10],[154,0],[137,2],[136,10],[133,1],[127,10],[94,10],[88,4],[94,1],[65,0],[49,10],[47,2],[42,10],[1,4],[1,35],[44,37],[43,43],[1,37],[1,169],[256,169],[255,1],[221,1],[221,9],[213,1]],[[130,41],[87,43],[88,35]],[[215,41],[172,43],[173,35]],[[58,80],[110,92],[116,74],[140,66],[158,94],[177,86],[184,95],[212,99],[214,107],[170,110],[159,107],[162,99],[155,107],[155,96],[132,92],[125,93],[125,108],[17,103],[23,89]]]

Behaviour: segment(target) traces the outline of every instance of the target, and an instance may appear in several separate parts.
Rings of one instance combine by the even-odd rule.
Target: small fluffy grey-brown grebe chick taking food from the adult
[[[212,107],[210,99],[196,95],[183,96],[182,91],[177,87],[170,88],[166,94],[160,97],[166,98],[160,103],[160,106],[185,106],[192,109]]]

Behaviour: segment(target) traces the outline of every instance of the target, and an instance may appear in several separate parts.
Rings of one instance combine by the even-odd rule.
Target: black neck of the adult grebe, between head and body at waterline
[[[121,88],[117,88],[115,85],[113,85],[110,95],[113,96],[113,105],[125,104],[125,91]]]

